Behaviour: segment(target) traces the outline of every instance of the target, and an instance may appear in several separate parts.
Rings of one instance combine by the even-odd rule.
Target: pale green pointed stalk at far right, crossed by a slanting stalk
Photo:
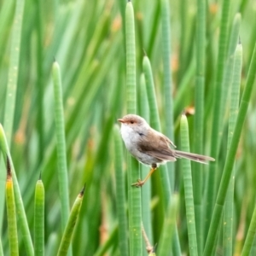
[[[239,108],[239,92],[241,83],[241,62],[242,62],[242,48],[241,44],[237,44],[235,52],[235,63],[233,72],[233,82],[231,87],[231,102],[230,102],[230,119],[229,119],[229,135],[228,148],[230,149],[230,142],[234,134],[236,125],[236,118]],[[234,186],[235,186],[235,166],[233,167],[230,178],[229,189],[224,205],[224,255],[232,255],[232,236],[233,236],[233,208],[234,208]]]

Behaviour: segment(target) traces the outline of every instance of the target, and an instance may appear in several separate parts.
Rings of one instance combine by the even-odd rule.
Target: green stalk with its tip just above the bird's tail
[[[186,116],[183,114],[180,121],[181,150],[190,152],[189,148],[189,125]],[[189,255],[197,256],[197,241],[195,231],[195,209],[193,196],[193,183],[190,160],[182,160],[183,182],[185,191],[186,217],[189,235]]]

